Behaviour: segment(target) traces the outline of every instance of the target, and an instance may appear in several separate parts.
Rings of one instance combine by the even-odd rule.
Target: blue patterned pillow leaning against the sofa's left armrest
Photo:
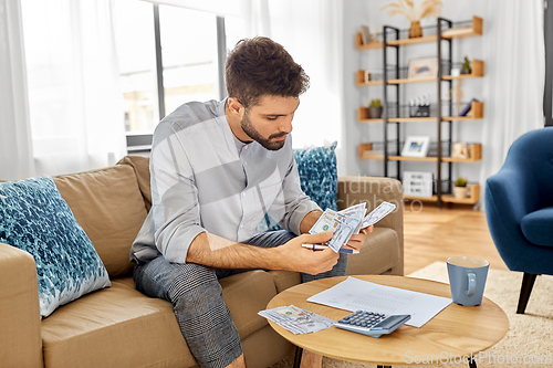
[[[111,286],[94,245],[51,178],[0,182],[0,242],[34,257],[42,317]]]

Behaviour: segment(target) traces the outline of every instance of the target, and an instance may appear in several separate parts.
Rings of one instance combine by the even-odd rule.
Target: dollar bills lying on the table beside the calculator
[[[316,333],[334,325],[334,320],[314,314],[294,305],[265,309],[258,313],[260,316],[271,319],[279,326],[284,327],[294,335]]]

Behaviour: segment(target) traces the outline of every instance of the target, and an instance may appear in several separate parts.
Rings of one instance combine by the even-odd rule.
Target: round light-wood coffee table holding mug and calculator
[[[267,308],[293,304],[338,320],[351,312],[310,303],[306,299],[346,277],[317,280],[290,287],[274,296]],[[353,277],[375,284],[451,297],[449,285],[435,281],[386,275]],[[487,297],[482,299],[481,305],[473,307],[451,303],[420,328],[404,325],[394,333],[379,338],[351,333],[334,326],[314,334],[294,335],[271,320],[269,324],[276,333],[301,349],[340,360],[378,366],[420,364],[430,360],[430,364],[466,361],[470,367],[476,367],[477,360],[471,360],[470,357],[478,358],[477,353],[497,344],[509,329],[505,313]],[[296,357],[301,357],[301,349]]]

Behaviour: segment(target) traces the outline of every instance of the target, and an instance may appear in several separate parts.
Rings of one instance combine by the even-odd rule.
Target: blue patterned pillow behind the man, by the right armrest
[[[323,211],[337,210],[338,174],[336,169],[336,141],[330,147],[294,149],[302,190]]]

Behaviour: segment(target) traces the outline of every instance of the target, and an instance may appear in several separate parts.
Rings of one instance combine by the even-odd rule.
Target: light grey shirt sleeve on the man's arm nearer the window
[[[156,248],[169,262],[186,263],[200,225],[198,188],[173,128],[159,125],[150,155],[152,211]]]

